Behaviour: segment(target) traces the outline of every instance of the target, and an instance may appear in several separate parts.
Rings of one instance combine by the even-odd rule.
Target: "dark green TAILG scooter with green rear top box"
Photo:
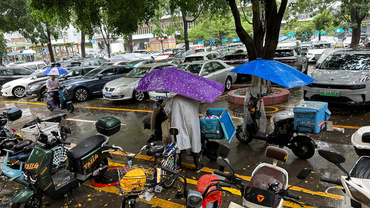
[[[52,131],[55,137],[53,139],[48,139],[42,132],[38,133],[37,142],[40,145],[33,149],[24,166],[24,180],[29,186],[12,199],[11,207],[41,208],[43,195],[51,199],[64,196],[70,205],[67,195],[74,188],[105,172],[108,169],[109,153],[103,152],[108,150],[103,145],[108,144],[110,136],[119,131],[121,122],[106,116],[97,120],[95,126],[99,133],[84,139],[69,150],[69,168],[60,169],[55,174],[51,174],[53,153],[48,146],[70,143],[61,141],[57,132]],[[70,133],[70,129],[67,131]]]

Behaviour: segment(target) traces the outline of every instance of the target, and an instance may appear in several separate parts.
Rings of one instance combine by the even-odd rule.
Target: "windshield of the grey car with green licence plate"
[[[320,66],[328,70],[370,70],[370,54],[333,54]]]

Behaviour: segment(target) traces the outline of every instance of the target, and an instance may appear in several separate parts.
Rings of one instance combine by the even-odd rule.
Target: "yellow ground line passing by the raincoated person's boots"
[[[123,154],[121,152],[112,152],[112,154],[114,155],[122,155]],[[136,156],[135,158],[138,158],[138,159],[143,159],[143,160],[150,160],[152,157],[150,156],[147,156],[147,155],[138,155]],[[187,168],[191,168],[191,169],[195,169],[195,166],[193,164],[188,164],[188,163],[181,163],[183,167],[187,167]],[[211,169],[211,168],[208,168],[208,167],[203,167],[203,169],[201,169],[203,172],[209,172],[209,173],[213,173],[213,171],[215,171],[215,169]],[[228,173],[228,172],[226,172]],[[235,174],[236,176],[242,178],[243,180],[247,180],[247,181],[251,181],[251,176],[245,176],[245,175],[239,175],[239,174]],[[186,179],[187,180],[187,179]],[[307,193],[307,194],[312,194],[312,195],[318,195],[318,196],[322,196],[322,197],[328,197],[328,198],[333,198],[333,199],[339,199],[339,200],[344,200],[344,197],[343,196],[340,196],[340,195],[336,195],[336,194],[325,194],[324,192],[316,192],[316,191],[311,191],[311,190],[308,190],[308,189],[304,189],[304,188],[300,188],[300,187],[297,187],[297,186],[294,186],[292,188],[290,188],[291,190],[295,190],[295,191],[301,191],[301,192],[304,192],[304,193]]]

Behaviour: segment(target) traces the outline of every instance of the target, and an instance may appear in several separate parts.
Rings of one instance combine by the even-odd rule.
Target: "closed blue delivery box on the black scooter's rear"
[[[331,112],[328,103],[304,101],[293,108],[294,129],[308,133],[319,133],[326,127]]]

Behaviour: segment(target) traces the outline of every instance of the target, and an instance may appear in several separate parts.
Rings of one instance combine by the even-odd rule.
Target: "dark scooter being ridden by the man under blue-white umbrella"
[[[71,102],[67,89],[65,89],[64,86],[60,86],[57,89],[58,89],[58,93],[59,93],[59,97],[61,101],[59,108],[57,108],[54,105],[53,98],[50,97],[47,92],[43,92],[42,96],[46,98],[47,100],[47,103],[46,103],[47,109],[49,111],[53,111],[54,109],[59,109],[59,110],[67,109],[68,112],[72,113],[74,111],[74,106]]]

